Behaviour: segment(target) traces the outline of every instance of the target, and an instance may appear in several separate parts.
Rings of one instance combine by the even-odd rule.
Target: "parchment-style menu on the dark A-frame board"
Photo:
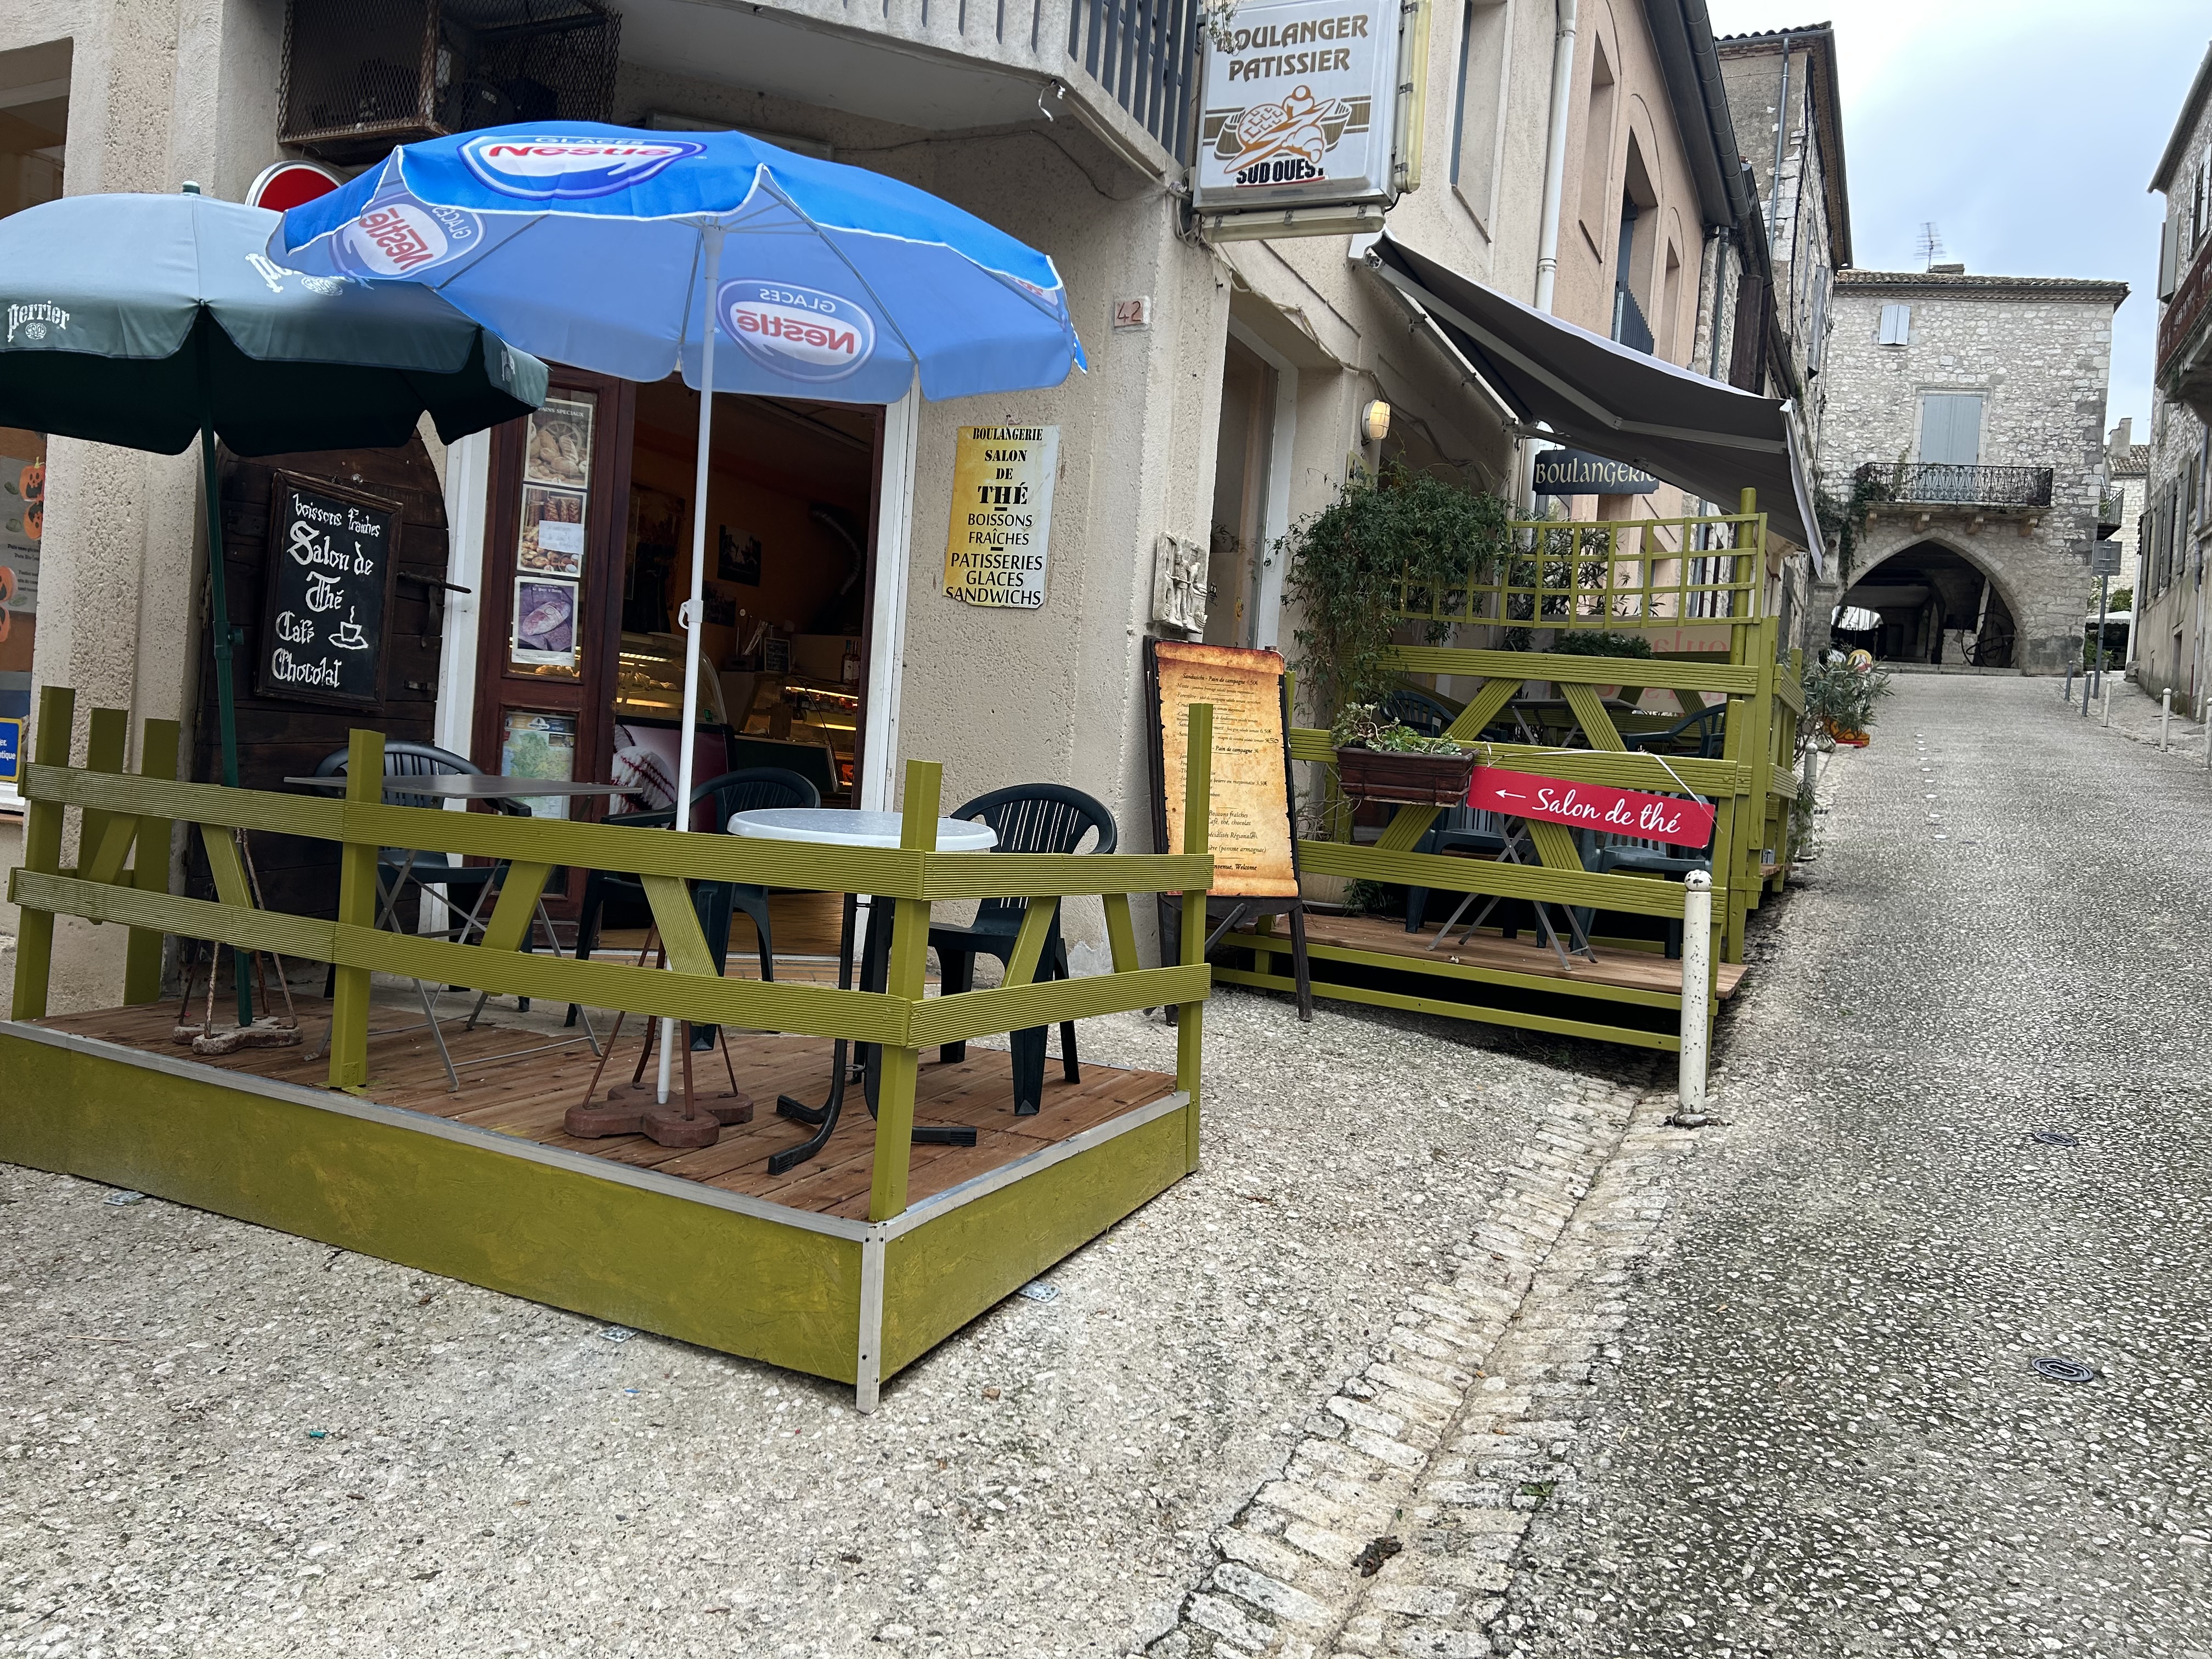
[[[1168,852],[1183,849],[1186,719],[1192,703],[1212,703],[1212,891],[1223,898],[1296,898],[1290,763],[1283,750],[1283,657],[1177,639],[1155,639],[1150,646]]]

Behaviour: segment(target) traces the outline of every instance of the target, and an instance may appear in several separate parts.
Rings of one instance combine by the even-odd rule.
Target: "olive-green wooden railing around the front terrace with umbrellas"
[[[1190,710],[1192,763],[1183,823],[1199,830],[1179,856],[938,852],[940,768],[927,761],[907,763],[905,830],[896,849],[818,847],[385,805],[385,739],[367,730],[352,734],[347,792],[336,801],[177,783],[175,721],[146,721],[142,770],[126,774],[122,761],[128,728],[119,710],[93,710],[86,763],[69,765],[73,712],[73,692],[53,686],[42,692],[33,759],[22,779],[22,794],[31,803],[24,863],[9,885],[9,898],[22,907],[13,1000],[18,1020],[46,1013],[53,918],[82,916],[131,929],[128,1002],[153,1002],[159,995],[166,933],[334,964],[330,1086],[356,1093],[369,1082],[372,973],[699,1024],[874,1042],[883,1044],[883,1082],[869,1219],[887,1221],[907,1208],[907,1146],[922,1048],[1172,1004],[1181,1022],[1177,1086],[1190,1097],[1186,1152],[1190,1168],[1197,1168],[1199,1046],[1210,989],[1210,971],[1197,960],[1206,925],[1203,894],[1212,885],[1203,830],[1212,774],[1210,706]],[[62,865],[69,810],[82,814],[75,867]],[[168,891],[170,834],[179,821],[199,832],[215,876],[215,900]],[[259,909],[232,830],[341,843],[336,918]],[[482,940],[458,945],[374,927],[378,847],[507,860],[507,878]],[[668,947],[670,971],[522,951],[538,896],[560,867],[637,876]],[[887,987],[841,991],[717,975],[690,905],[688,880],[854,891],[891,902]],[[1159,891],[1179,891],[1188,900],[1181,958],[1190,967],[1146,969],[1137,960],[1128,896]],[[1095,894],[1104,902],[1113,971],[1040,982],[1035,971],[1053,916],[1060,900],[1075,894]],[[987,991],[925,998],[931,902],[989,896],[1029,900],[1004,982]],[[889,1157],[885,1148],[891,1150]]]

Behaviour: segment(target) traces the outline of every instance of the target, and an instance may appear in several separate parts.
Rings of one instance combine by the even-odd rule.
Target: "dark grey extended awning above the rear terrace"
[[[1723,511],[1734,511],[1739,491],[1756,489],[1767,522],[1809,549],[1820,568],[1812,469],[1785,400],[1630,352],[1458,276],[1389,234],[1367,259],[1524,422],[1542,422],[1564,445],[1641,467]]]

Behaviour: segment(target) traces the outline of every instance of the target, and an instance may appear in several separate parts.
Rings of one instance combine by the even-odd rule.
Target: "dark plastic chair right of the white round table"
[[[1091,852],[1113,852],[1121,841],[1104,803],[1064,783],[1015,783],[1006,790],[991,790],[951,816],[995,830],[993,852],[1079,852],[1093,832],[1097,845]],[[975,984],[978,956],[995,956],[1000,962],[1013,958],[1013,942],[1022,931],[1026,909],[1026,898],[987,898],[967,927],[938,922],[929,929],[929,947],[938,953],[945,995],[958,995]],[[1055,914],[1053,929],[1044,936],[1044,956],[1037,960],[1037,980],[1064,978],[1068,978],[1068,947],[1060,938],[1060,916]],[[1031,1117],[1044,1104],[1044,1026],[1015,1031],[1011,1042],[1013,1115]],[[938,1060],[964,1057],[964,1042],[947,1042],[938,1048]],[[1060,1064],[1071,1084],[1082,1082],[1073,1020],[1060,1026]]]

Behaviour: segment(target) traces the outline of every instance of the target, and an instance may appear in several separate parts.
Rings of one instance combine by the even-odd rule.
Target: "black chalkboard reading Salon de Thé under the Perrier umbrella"
[[[259,692],[380,703],[400,504],[292,473],[270,482]]]

